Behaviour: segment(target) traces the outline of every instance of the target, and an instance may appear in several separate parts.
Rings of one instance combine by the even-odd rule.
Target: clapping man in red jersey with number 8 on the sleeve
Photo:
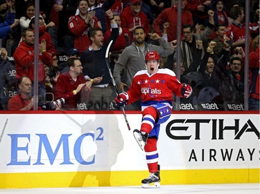
[[[76,16],[71,16],[68,21],[69,30],[75,36],[74,38],[74,48],[82,53],[86,50],[91,41],[87,37],[87,31],[89,28],[98,28],[98,19],[95,17],[94,11],[87,11],[88,8],[87,0],[78,1],[78,14]]]

